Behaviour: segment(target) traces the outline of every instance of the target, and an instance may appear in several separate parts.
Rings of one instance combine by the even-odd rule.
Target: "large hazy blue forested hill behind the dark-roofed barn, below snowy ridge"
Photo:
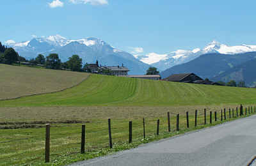
[[[220,73],[226,72],[239,64],[250,61],[256,57],[256,52],[246,52],[243,54],[204,54],[188,63],[173,66],[161,72],[162,78],[166,78],[174,73],[196,73],[202,78],[212,78]]]

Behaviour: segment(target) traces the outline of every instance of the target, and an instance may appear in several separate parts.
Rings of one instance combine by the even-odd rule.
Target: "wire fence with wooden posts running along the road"
[[[111,149],[129,142],[140,144],[149,138],[161,138],[161,135],[170,137],[179,132],[220,124],[255,113],[256,107],[236,107],[216,111],[194,110],[179,115],[169,112],[169,116],[166,114],[161,117],[143,118],[144,120],[132,119],[131,124],[127,119],[111,119],[109,120],[111,125],[108,121],[106,123],[95,121],[85,124],[84,135],[81,124],[51,126],[49,158],[52,162],[65,156],[74,156],[83,153],[83,147],[86,156],[92,151]],[[24,130],[26,132],[23,134],[19,133],[20,130],[14,133],[15,130],[2,130],[5,131],[6,135],[13,134],[13,138],[0,135],[0,165],[31,165],[45,162],[45,154],[47,154],[45,128]],[[110,146],[110,142],[113,146]]]

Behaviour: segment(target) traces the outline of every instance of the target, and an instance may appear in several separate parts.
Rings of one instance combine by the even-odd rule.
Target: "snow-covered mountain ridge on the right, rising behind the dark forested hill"
[[[220,53],[220,54],[240,54],[244,52],[255,52],[256,45],[238,45],[228,46],[219,43],[218,41],[212,41],[204,49],[193,49],[193,50],[177,50],[170,52],[169,54],[156,54],[150,53],[145,56],[134,56],[144,63],[156,66],[159,70],[163,71],[172,66],[178,64],[187,63],[196,59],[203,54],[208,53]]]

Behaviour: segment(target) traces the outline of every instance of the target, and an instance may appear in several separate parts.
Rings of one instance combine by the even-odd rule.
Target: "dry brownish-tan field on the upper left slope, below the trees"
[[[0,64],[0,100],[51,93],[77,85],[86,73]]]

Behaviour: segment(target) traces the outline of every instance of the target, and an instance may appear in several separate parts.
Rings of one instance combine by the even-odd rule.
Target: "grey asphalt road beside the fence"
[[[256,155],[256,116],[144,144],[81,165],[247,165]]]

